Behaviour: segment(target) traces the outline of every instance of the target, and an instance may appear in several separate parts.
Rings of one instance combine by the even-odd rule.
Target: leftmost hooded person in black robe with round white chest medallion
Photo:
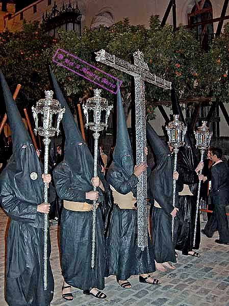
[[[47,306],[53,299],[48,235],[47,290],[43,290],[44,214],[41,167],[6,80],[0,72],[13,155],[0,176],[0,201],[11,218],[7,238],[6,301],[10,306]]]

